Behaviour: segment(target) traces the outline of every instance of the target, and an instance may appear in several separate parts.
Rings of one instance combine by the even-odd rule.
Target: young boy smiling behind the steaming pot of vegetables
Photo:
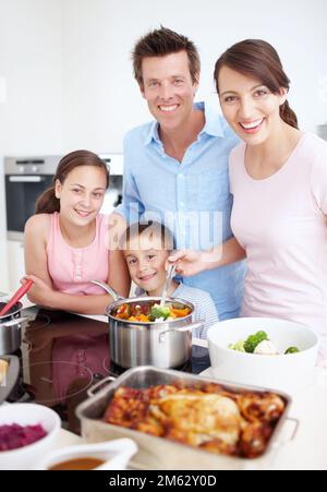
[[[131,225],[121,247],[134,284],[142,289],[141,295],[160,297],[166,281],[166,263],[173,250],[173,238],[169,229],[155,221]],[[184,299],[195,308],[194,322],[203,321],[201,328],[193,332],[197,338],[206,338],[207,329],[218,322],[214,301],[208,292],[185,286],[172,279],[168,297]]]

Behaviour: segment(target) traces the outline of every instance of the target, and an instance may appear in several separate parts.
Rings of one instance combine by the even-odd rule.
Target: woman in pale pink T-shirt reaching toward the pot
[[[327,359],[327,144],[298,129],[289,80],[268,43],[232,46],[215,81],[223,116],[243,141],[230,155],[234,238],[170,260],[194,275],[246,256],[242,315],[306,324]]]

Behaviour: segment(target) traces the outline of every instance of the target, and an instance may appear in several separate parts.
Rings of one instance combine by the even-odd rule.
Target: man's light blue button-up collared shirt
[[[175,249],[206,250],[232,237],[228,158],[239,143],[225,119],[205,111],[205,125],[183,160],[165,153],[158,123],[130,131],[124,139],[123,204],[117,212],[129,223],[164,221],[174,235]],[[239,314],[245,266],[234,263],[183,278],[191,287],[206,290],[220,320]]]

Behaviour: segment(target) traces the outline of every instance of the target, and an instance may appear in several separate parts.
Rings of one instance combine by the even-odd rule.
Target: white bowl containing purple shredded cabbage
[[[36,425],[40,424],[47,435],[33,444],[11,451],[0,451],[0,470],[28,470],[51,451],[57,437],[61,420],[48,407],[37,404],[11,404],[0,408],[0,425]]]

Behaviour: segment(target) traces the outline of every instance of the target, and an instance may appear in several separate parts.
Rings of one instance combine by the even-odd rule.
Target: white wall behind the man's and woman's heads
[[[258,37],[278,49],[301,127],[327,121],[325,0],[63,0],[64,146],[121,151],[124,132],[148,120],[133,80],[136,39],[164,24],[198,46],[199,98],[217,105],[213,69],[233,43]]]

